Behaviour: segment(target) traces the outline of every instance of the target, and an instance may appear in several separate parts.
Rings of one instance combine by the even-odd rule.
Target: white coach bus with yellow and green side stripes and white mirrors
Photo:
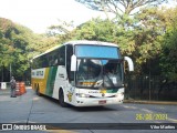
[[[123,103],[124,61],[117,44],[70,41],[32,59],[31,83],[38,95],[59,100],[61,106]]]

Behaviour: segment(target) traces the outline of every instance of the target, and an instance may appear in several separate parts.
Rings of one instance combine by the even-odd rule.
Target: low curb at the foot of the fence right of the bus
[[[124,100],[124,103],[177,105],[177,102],[169,102],[169,101],[135,101],[135,100]]]

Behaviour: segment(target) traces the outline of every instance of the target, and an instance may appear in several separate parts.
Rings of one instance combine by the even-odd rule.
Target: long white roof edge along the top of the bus
[[[44,54],[46,54],[46,53],[50,53],[51,51],[56,50],[56,49],[59,49],[60,47],[66,45],[66,44],[73,44],[73,45],[76,45],[76,44],[93,44],[93,45],[95,45],[95,44],[96,44],[96,45],[118,47],[118,45],[115,44],[115,43],[103,42],[103,41],[88,41],[88,40],[69,41],[69,42],[65,42],[64,44],[55,45],[55,47],[46,50],[45,52],[43,52],[43,53],[41,53],[41,54],[39,54],[39,55],[35,55],[34,58],[32,58],[32,60],[35,59],[35,58],[39,58],[39,57],[41,57],[41,55],[44,55]]]

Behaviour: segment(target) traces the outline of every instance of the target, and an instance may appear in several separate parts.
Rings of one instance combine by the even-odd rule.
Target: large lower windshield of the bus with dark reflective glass
[[[122,63],[119,60],[77,59],[76,86],[122,88]]]

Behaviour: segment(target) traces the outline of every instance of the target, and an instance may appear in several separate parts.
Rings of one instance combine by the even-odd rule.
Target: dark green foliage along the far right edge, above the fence
[[[174,10],[177,14],[177,8]],[[160,68],[165,78],[177,81],[177,16],[171,18],[163,40],[163,52],[160,54]]]

